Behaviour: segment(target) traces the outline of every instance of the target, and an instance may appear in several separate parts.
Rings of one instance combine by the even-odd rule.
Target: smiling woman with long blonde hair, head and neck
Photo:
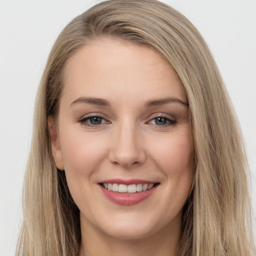
[[[237,121],[193,25],[155,0],[74,18],[37,93],[17,255],[252,255],[249,205]]]

